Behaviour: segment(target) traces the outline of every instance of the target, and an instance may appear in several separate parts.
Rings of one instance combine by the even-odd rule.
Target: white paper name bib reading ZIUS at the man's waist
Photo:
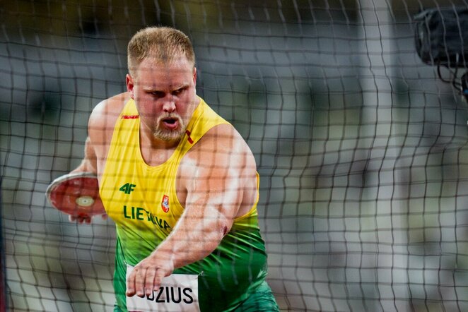
[[[127,278],[134,269],[127,265]],[[163,278],[161,287],[150,296],[127,296],[129,311],[199,312],[198,275],[172,274]]]

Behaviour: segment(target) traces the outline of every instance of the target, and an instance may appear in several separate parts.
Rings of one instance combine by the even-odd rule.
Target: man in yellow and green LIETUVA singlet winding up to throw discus
[[[182,309],[196,299],[201,311],[278,311],[265,282],[255,158],[196,95],[188,37],[141,30],[129,42],[128,64],[127,92],[93,109],[74,170],[97,174],[116,224],[115,311],[138,309],[141,300]],[[198,294],[177,284],[182,276]]]

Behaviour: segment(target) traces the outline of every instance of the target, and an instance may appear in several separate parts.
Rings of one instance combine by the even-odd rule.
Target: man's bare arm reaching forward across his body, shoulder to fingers
[[[188,156],[188,155],[187,155]],[[185,182],[185,211],[171,234],[127,280],[127,296],[151,294],[163,277],[212,253],[244,206],[246,187],[256,187],[255,160],[230,126],[218,126],[197,143],[180,167]]]

